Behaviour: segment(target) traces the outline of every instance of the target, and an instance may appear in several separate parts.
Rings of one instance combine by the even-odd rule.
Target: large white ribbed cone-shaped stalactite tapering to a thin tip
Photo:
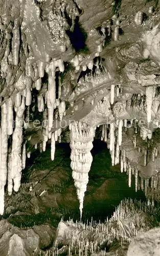
[[[88,172],[93,157],[90,153],[95,136],[94,127],[85,123],[75,122],[70,125],[71,168],[72,176],[77,188],[77,196],[80,202],[80,216],[82,217],[83,198],[88,183]],[[78,153],[78,155],[76,155]]]

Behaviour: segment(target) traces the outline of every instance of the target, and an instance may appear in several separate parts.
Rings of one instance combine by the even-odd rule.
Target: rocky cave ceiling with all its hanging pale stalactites
[[[102,8],[99,5],[92,17],[94,24],[78,2],[16,1],[17,13],[7,2],[6,10],[0,7],[1,215],[7,177],[8,194],[19,189],[26,155],[31,154],[27,141],[32,140],[32,135],[25,134],[38,115],[41,138],[33,144],[42,152],[51,139],[52,160],[58,137],[60,142],[61,132],[74,119],[70,125],[71,168],[81,214],[92,164],[90,150],[98,125],[102,125],[101,139],[107,142],[112,165],[121,163],[121,172],[128,173],[129,186],[134,175],[135,190],[143,189],[145,182],[146,192],[150,177],[151,189],[158,187],[158,15],[146,1],[140,6],[142,11],[131,9],[133,15],[127,16],[131,34],[125,45],[128,20],[123,18],[121,5],[114,12],[112,3],[100,1],[102,6],[105,3],[107,20],[106,15],[98,18]],[[157,12],[158,8],[155,5]],[[143,12],[148,13],[146,19]],[[124,31],[120,34],[121,27]],[[76,33],[86,40],[80,44],[84,49],[79,48]],[[133,161],[129,151],[142,163]]]

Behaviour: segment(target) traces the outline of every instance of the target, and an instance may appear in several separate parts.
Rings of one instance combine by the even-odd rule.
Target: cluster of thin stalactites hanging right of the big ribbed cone
[[[156,189],[158,186],[158,175],[154,173],[150,179],[142,178],[140,175],[140,171],[136,167],[135,163],[130,163],[129,159],[126,156],[125,148],[122,146],[122,134],[123,131],[126,132],[127,129],[133,129],[134,133],[132,135],[132,143],[133,148],[136,148],[138,152],[142,153],[144,158],[144,166],[147,165],[147,157],[148,154],[151,155],[151,160],[154,162],[154,159],[158,155],[158,147],[153,146],[152,143],[154,140],[152,139],[152,131],[144,126],[138,125],[138,119],[134,120],[116,120],[110,124],[102,125],[102,134],[101,140],[104,140],[107,143],[107,147],[110,150],[111,162],[112,165],[116,165],[118,163],[121,164],[121,173],[126,172],[128,175],[128,185],[131,187],[131,177],[134,176],[135,180],[135,191],[138,189],[145,189],[145,195],[147,196],[147,188]],[[155,127],[159,127],[159,122],[155,121]],[[140,147],[138,144],[138,136],[145,141],[146,146]],[[148,150],[149,149],[149,150]]]

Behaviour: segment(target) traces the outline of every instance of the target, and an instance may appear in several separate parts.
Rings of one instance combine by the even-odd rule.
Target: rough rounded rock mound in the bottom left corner
[[[7,220],[1,220],[0,226],[2,256],[39,255],[41,249],[51,246],[55,236],[55,229],[49,224],[25,230],[11,225]]]

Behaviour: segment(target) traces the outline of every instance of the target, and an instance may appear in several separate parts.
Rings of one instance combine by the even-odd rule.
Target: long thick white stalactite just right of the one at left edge
[[[25,97],[22,97],[21,105],[18,107],[15,118],[15,129],[12,135],[12,151],[10,161],[8,162],[8,194],[18,191],[21,180],[22,160],[21,160],[21,144],[22,144],[22,125],[23,115],[25,111]],[[14,187],[13,187],[14,182]]]

